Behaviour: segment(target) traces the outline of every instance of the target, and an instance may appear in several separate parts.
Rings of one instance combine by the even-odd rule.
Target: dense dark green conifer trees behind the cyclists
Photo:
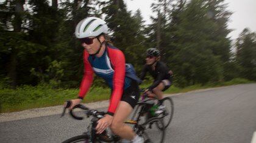
[[[76,24],[88,16],[107,21],[115,47],[138,75],[146,48],[157,47],[161,60],[174,72],[178,87],[213,84],[233,78],[256,80],[255,33],[245,29],[231,56],[232,14],[224,0],[155,0],[152,24],[145,25],[140,10],[132,13],[123,0],[0,2],[1,88],[17,85],[49,85],[77,88],[83,76],[83,48],[74,37]],[[107,87],[94,78],[93,88]],[[19,87],[18,87],[19,88]]]

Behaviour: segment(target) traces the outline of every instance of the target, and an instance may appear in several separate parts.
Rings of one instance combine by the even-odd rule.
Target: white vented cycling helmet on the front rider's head
[[[76,38],[87,38],[99,36],[101,33],[107,34],[108,27],[104,20],[96,17],[82,19],[76,25]]]

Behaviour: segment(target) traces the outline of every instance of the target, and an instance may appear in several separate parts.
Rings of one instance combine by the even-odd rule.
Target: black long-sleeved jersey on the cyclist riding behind
[[[154,78],[154,83],[148,87],[149,90],[154,89],[160,84],[164,79],[171,81],[171,75],[169,74],[169,69],[163,62],[158,61],[155,65],[155,70],[152,69],[151,65],[144,65],[140,79],[143,80],[146,76],[146,73],[149,72],[150,75]]]

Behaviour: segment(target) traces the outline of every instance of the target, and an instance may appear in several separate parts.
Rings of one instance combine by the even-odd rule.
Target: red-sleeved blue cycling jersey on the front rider
[[[127,70],[128,68],[128,70]],[[126,65],[123,52],[118,48],[107,45],[105,52],[101,57],[89,55],[84,50],[84,78],[80,85],[79,98],[84,98],[93,82],[93,73],[103,78],[108,86],[112,88],[112,95],[108,113],[115,113],[118,102],[121,100],[123,90],[128,88],[131,78],[126,75],[137,77],[135,73],[130,72],[129,65]]]

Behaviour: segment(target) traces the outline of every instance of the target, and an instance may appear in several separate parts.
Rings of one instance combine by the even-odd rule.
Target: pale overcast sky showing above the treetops
[[[145,24],[150,24],[151,3],[153,0],[124,0],[127,9],[134,13],[138,8]],[[228,4],[227,10],[233,12],[229,21],[229,28],[233,29],[230,33],[232,39],[238,38],[238,35],[244,28],[248,27],[251,31],[256,32],[256,0],[225,0]]]

